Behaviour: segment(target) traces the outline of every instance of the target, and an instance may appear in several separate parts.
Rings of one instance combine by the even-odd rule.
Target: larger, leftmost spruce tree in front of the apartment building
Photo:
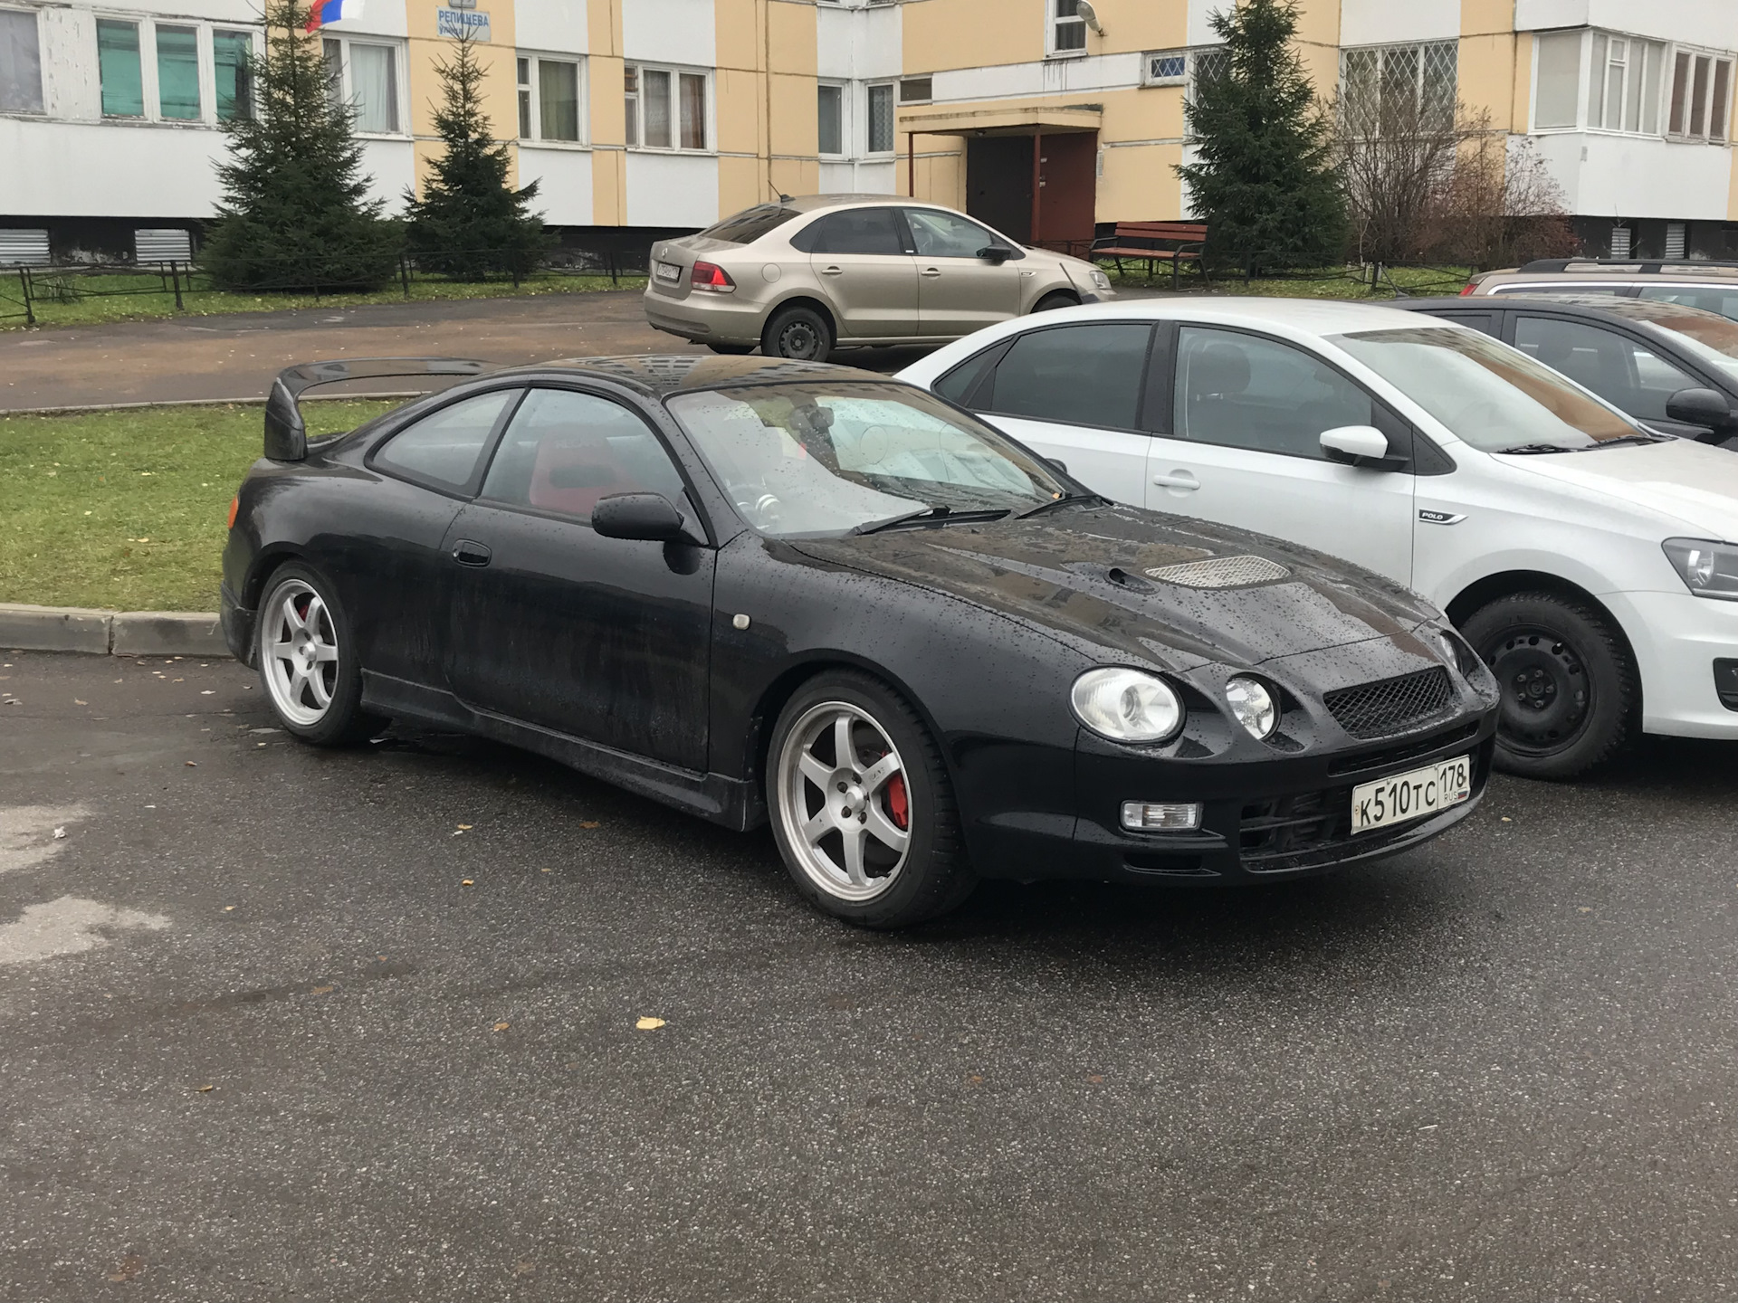
[[[401,231],[381,217],[382,200],[368,198],[355,113],[328,96],[320,38],[306,23],[297,0],[269,5],[252,113],[226,123],[222,203],[200,257],[224,287],[368,288],[396,269]]]

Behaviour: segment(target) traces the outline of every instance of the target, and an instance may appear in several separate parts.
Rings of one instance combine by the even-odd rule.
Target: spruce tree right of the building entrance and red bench
[[[1185,108],[1199,162],[1177,169],[1208,224],[1208,254],[1260,271],[1343,254],[1345,193],[1331,123],[1291,47],[1295,0],[1215,14],[1224,52]]]

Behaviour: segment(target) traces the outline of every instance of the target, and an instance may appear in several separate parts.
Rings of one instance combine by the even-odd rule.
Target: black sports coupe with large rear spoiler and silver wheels
[[[452,387],[309,441],[313,384]],[[1420,598],[1116,506],[881,375],[726,356],[294,367],[222,624],[285,730],[388,718],[732,829],[893,928],[977,877],[1260,883],[1416,846],[1496,686]]]

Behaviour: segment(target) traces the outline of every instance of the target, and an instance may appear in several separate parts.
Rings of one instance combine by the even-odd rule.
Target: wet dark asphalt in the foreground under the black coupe
[[[0,662],[5,1300],[1738,1294],[1729,749],[881,936],[235,664]]]

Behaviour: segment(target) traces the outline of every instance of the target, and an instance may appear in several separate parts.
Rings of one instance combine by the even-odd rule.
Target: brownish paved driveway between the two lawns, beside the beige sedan
[[[280,370],[320,358],[438,354],[516,367],[549,358],[699,351],[652,330],[638,290],[12,330],[0,332],[0,412],[262,398]],[[897,370],[916,356],[919,349],[853,349],[839,360]],[[412,387],[391,380],[368,387],[382,384]]]

